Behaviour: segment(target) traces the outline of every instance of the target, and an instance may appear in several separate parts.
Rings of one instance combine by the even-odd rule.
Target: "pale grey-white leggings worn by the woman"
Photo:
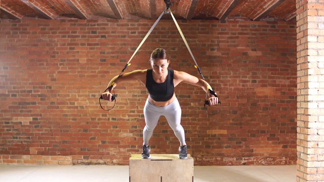
[[[186,143],[184,138],[184,129],[180,124],[181,108],[177,98],[171,104],[165,107],[157,107],[150,103],[148,99],[146,100],[144,106],[146,125],[143,130],[143,145],[148,145],[160,116],[165,116],[167,118],[167,121],[180,141],[180,144],[184,145]]]

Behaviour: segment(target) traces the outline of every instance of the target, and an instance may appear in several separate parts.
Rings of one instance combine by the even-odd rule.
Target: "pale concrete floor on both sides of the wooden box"
[[[295,182],[296,165],[194,166],[193,180],[230,182]],[[129,181],[129,166],[0,165],[0,181]]]

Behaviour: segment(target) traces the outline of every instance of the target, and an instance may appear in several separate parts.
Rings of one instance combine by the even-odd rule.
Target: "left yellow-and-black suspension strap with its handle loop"
[[[135,56],[135,54],[137,53],[137,51],[141,48],[141,46],[143,45],[143,43],[145,42],[145,40],[147,39],[147,37],[151,34],[151,32],[153,31],[153,29],[155,28],[156,24],[158,23],[158,21],[161,19],[161,17],[166,13],[167,8],[161,13],[161,15],[157,18],[157,20],[155,21],[155,23],[153,24],[153,26],[151,27],[151,29],[146,33],[145,37],[143,38],[143,40],[141,41],[141,43],[138,45],[137,49],[135,50],[135,52],[133,53],[132,57],[130,58],[130,60],[126,63],[126,65],[124,66],[123,70],[120,71],[119,75],[117,76],[117,78],[114,80],[114,82],[112,82],[112,89],[113,89],[113,85],[115,83],[115,81],[118,79],[118,77],[126,70],[126,68],[128,66],[130,66],[130,62],[132,61],[133,57]],[[107,92],[107,90],[109,89],[109,85],[108,87],[105,89],[104,93]],[[101,106],[101,102],[100,100],[103,99],[102,96],[100,96],[99,98],[99,104],[101,109],[105,110],[105,111],[110,111],[111,109],[113,109],[115,107],[116,104],[116,96],[115,93],[113,93],[113,96],[111,97],[111,101],[115,101],[114,105],[112,106],[111,109],[104,109]]]

